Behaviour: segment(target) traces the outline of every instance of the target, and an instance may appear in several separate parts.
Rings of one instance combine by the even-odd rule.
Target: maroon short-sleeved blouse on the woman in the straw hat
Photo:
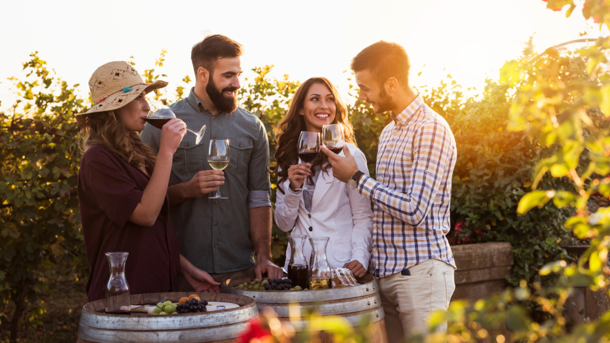
[[[146,160],[152,174],[154,166]],[[131,294],[178,289],[180,253],[165,202],[151,227],[129,221],[149,178],[123,157],[103,146],[90,147],[81,158],[78,202],[85,236],[89,301],[104,299],[110,277],[107,252],[129,252],[125,275]]]

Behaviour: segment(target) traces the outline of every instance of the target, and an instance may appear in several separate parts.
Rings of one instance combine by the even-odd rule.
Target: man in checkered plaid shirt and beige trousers
[[[381,133],[377,180],[325,147],[334,177],[375,206],[369,272],[379,278],[390,342],[428,332],[431,311],[447,309],[455,289],[449,242],[451,175],[456,143],[443,119],[409,87],[409,57],[396,43],[379,41],[351,63],[360,100],[375,113],[392,111]],[[446,330],[447,324],[436,327]]]

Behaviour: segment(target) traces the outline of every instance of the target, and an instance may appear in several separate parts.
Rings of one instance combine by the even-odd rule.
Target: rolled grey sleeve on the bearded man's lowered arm
[[[265,126],[257,123],[259,135],[248,165],[248,208],[271,206],[269,141]]]

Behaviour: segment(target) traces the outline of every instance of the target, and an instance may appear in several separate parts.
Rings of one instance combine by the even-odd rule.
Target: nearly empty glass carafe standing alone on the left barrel
[[[106,313],[129,313],[129,285],[125,278],[128,252],[107,252],[110,278],[106,285]]]

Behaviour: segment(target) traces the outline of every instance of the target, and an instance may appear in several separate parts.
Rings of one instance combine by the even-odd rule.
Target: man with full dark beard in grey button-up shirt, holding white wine
[[[241,55],[242,46],[223,35],[195,44],[195,87],[170,105],[189,128],[207,127],[201,144],[191,133],[182,139],[174,154],[168,194],[181,254],[219,283],[252,274],[261,279],[264,273],[282,277],[282,270],[271,263],[267,132],[260,119],[237,107]],[[160,136],[161,130],[150,124],[140,134],[156,151]],[[213,139],[229,140],[231,160],[224,172],[207,162]],[[228,199],[209,199],[218,187]],[[179,283],[180,291],[193,291],[186,280]],[[217,289],[217,284],[210,289]]]

